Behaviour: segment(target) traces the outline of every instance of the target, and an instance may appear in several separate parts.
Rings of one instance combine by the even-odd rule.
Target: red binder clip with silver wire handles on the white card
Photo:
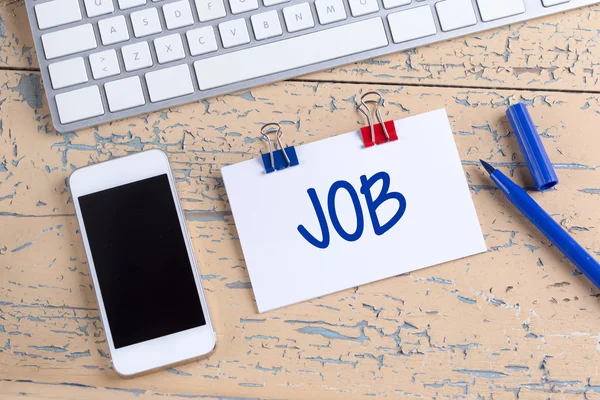
[[[367,99],[368,96],[377,96],[378,99]],[[365,147],[371,147],[376,144],[382,144],[391,142],[393,140],[398,140],[398,135],[396,134],[396,125],[394,124],[394,121],[386,121],[384,123],[381,118],[381,112],[379,111],[379,107],[383,107],[383,102],[383,96],[379,92],[367,92],[363,94],[360,98],[358,111],[360,111],[365,117],[367,117],[367,122],[369,124],[369,126],[360,128],[360,133],[362,135]],[[367,103],[375,104],[374,112],[371,111]],[[373,114],[375,114],[375,117],[379,122],[377,125],[373,124]]]

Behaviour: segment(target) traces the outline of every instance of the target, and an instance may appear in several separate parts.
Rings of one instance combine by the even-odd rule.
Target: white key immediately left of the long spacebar
[[[187,64],[148,72],[146,84],[150,101],[153,103],[194,93],[194,85]]]

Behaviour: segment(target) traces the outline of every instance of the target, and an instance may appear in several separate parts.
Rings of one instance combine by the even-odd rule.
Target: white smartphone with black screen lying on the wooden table
[[[208,355],[216,336],[166,154],[78,169],[70,187],[115,371]]]

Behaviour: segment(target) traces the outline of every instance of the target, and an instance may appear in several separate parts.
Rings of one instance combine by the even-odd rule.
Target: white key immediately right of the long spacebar
[[[435,35],[437,32],[429,6],[389,14],[388,23],[390,24],[394,43]]]

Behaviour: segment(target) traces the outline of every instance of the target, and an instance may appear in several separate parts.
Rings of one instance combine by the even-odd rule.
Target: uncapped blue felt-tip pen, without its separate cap
[[[600,264],[573,239],[525,190],[483,160],[481,165],[496,186],[571,262],[600,288]]]

